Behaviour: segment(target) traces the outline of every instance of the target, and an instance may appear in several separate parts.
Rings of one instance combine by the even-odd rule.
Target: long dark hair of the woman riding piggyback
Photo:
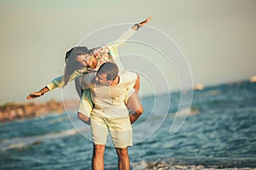
[[[88,54],[89,50],[86,47],[74,47],[66,53],[65,62],[66,68],[64,71],[64,84],[63,88],[67,85],[69,77],[73,74],[73,71],[84,68],[84,65],[77,61],[77,57],[82,54]]]

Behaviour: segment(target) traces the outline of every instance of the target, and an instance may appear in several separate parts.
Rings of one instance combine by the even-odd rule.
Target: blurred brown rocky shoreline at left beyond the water
[[[65,109],[75,109],[77,101],[65,101]],[[62,101],[51,99],[44,103],[28,102],[24,104],[7,103],[0,106],[0,123],[11,122],[24,118],[44,116],[50,113],[65,112]]]

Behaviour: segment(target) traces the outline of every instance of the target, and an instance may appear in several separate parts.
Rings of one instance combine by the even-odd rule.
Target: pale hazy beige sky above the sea
[[[1,0],[0,3],[0,105],[26,102],[28,94],[61,75],[65,53],[84,37],[106,31],[106,38],[95,38],[91,43],[101,45],[123,31],[116,26],[128,28],[148,16],[153,20],[134,37],[135,41],[145,43],[128,42],[119,51],[124,56],[132,52],[145,61],[145,65],[139,62],[137,65],[141,68],[143,94],[157,91],[149,77],[154,70],[165,76],[164,82],[171,90],[178,89],[180,80],[187,79],[180,71],[182,67],[189,69],[187,73],[191,74],[193,84],[205,86],[238,82],[256,75],[254,0]],[[160,36],[155,32],[161,32]],[[156,50],[169,47],[168,42],[160,44],[164,37],[173,45],[173,54],[175,50],[183,54],[180,68],[172,61],[165,65],[163,55]],[[145,45],[148,39],[158,42],[157,47],[148,48]],[[88,45],[93,48],[91,44]],[[134,58],[125,62],[136,63]],[[151,66],[152,72],[147,72],[146,67]],[[127,69],[131,69],[129,65]],[[160,88],[159,84],[156,86]],[[62,99],[61,93],[61,89],[55,89],[36,101]]]

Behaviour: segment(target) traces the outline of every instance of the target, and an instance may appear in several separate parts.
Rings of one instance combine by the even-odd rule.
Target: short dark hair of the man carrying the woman
[[[113,80],[117,77],[119,73],[119,68],[116,64],[112,62],[106,62],[100,66],[98,74],[107,73],[107,80]]]

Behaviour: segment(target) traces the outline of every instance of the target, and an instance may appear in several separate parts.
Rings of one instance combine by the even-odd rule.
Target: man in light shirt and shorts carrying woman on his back
[[[130,169],[128,147],[132,145],[131,123],[142,114],[142,105],[137,99],[137,110],[131,114],[124,100],[137,98],[139,77],[137,74],[124,71],[119,73],[117,65],[107,62],[103,64],[96,77],[84,77],[83,88],[90,88],[94,109],[90,118],[79,114],[79,118],[90,124],[93,140],[92,169],[104,168],[104,150],[110,131],[113,146],[119,157],[119,169]],[[90,74],[91,75],[91,74]]]

